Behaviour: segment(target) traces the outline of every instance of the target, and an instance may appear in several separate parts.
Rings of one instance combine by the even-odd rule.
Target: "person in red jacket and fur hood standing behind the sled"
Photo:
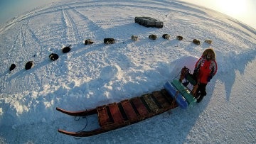
[[[206,96],[206,85],[218,70],[217,62],[215,61],[215,52],[212,48],[203,51],[203,55],[196,62],[193,77],[198,81],[198,89],[196,94],[197,102],[199,103]]]

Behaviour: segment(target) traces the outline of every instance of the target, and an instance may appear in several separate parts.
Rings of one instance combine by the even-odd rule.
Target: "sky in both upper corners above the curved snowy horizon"
[[[0,0],[0,24],[38,6],[60,0]],[[256,0],[180,0],[225,13],[256,30]],[[8,14],[6,14],[8,13]]]

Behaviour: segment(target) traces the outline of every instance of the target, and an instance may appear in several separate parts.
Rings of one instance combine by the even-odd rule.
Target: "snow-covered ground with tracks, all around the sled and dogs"
[[[135,16],[164,21],[164,28],[140,26]],[[95,43],[84,45],[88,38]],[[65,45],[71,51],[63,54]],[[181,1],[59,1],[2,26],[0,48],[0,143],[256,143],[256,31],[216,11]],[[183,66],[193,70],[206,48],[216,52],[218,73],[196,106],[88,138],[58,133],[97,119],[74,121],[57,106],[92,109],[162,89]],[[58,60],[48,58],[52,52]]]

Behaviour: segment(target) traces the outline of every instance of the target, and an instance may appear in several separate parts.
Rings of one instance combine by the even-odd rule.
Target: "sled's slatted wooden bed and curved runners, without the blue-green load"
[[[57,107],[57,111],[70,116],[89,116],[97,114],[100,126],[100,128],[96,128],[92,131],[70,132],[58,129],[58,132],[75,137],[97,135],[143,121],[146,118],[159,115],[177,106],[176,101],[166,92],[166,89],[161,89],[151,94],[125,99],[118,103],[97,106],[95,109],[85,111],[65,111]]]

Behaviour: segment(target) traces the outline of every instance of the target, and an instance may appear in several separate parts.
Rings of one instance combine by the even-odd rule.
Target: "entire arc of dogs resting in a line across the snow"
[[[169,40],[170,37],[171,37],[171,35],[169,35],[169,34],[164,34],[164,35],[162,35],[162,38],[164,38],[164,39],[166,39],[166,40]],[[149,35],[149,39],[151,39],[151,40],[156,40],[156,38],[157,38],[157,35],[154,35],[154,34]],[[139,39],[139,37],[138,37],[137,35],[132,35],[132,40],[137,41],[138,39]],[[180,35],[178,35],[178,36],[176,36],[176,39],[177,39],[177,40],[183,40],[183,37],[180,36]],[[200,41],[197,40],[197,39],[194,39],[192,42],[195,43],[196,45],[200,45]],[[205,42],[210,45],[210,44],[212,43],[212,40],[205,40]],[[85,42],[84,42],[85,45],[92,45],[92,43],[94,43],[94,42],[93,42],[92,40],[90,40],[90,39],[87,39],[87,40],[85,40]],[[115,43],[115,40],[114,40],[114,38],[104,38],[104,43],[105,43],[105,44],[114,44],[114,43]],[[63,53],[68,53],[68,52],[70,52],[70,50],[71,50],[70,47],[71,47],[71,45],[65,46],[65,47],[62,49],[62,52],[63,52]],[[58,60],[59,56],[58,56],[58,54],[56,54],[56,53],[51,53],[51,54],[49,55],[49,58],[50,58],[50,60],[55,61],[55,60]],[[33,67],[33,65],[34,65],[34,62],[33,62],[33,61],[28,61],[28,62],[26,62],[25,70],[30,70],[30,69]],[[11,64],[11,66],[10,66],[10,68],[9,68],[9,71],[11,72],[12,70],[15,69],[15,67],[16,67],[15,64]]]

